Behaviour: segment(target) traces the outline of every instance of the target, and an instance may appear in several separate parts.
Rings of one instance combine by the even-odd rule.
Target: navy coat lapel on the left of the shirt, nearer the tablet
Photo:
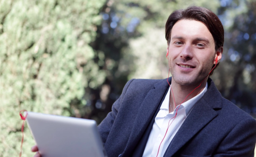
[[[169,78],[170,82],[171,78]],[[169,84],[166,80],[161,80],[159,83],[154,85],[154,89],[151,89],[145,99],[143,100],[141,106],[138,108],[138,112],[134,125],[132,127],[129,140],[127,142],[126,148],[123,152],[124,154],[129,155],[136,146],[136,143],[139,142],[140,137],[142,137],[144,131],[146,130],[148,124],[153,118],[154,113],[156,112],[159,103],[161,102],[163,96],[165,96],[166,89],[169,87]],[[124,156],[127,156],[124,155]]]

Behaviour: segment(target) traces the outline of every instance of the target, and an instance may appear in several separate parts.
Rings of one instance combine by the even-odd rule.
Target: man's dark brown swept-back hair
[[[167,40],[168,45],[170,44],[171,31],[174,24],[178,20],[182,20],[182,19],[196,20],[196,21],[203,22],[212,34],[212,37],[215,42],[215,50],[217,51],[221,46],[223,46],[224,29],[223,29],[221,20],[219,20],[218,16],[215,15],[209,9],[206,9],[203,7],[196,7],[196,6],[188,7],[187,9],[176,10],[172,12],[172,14],[169,16],[165,24],[165,38]],[[219,63],[216,65],[214,69],[216,69],[218,65]],[[212,70],[211,74],[213,73],[213,71],[214,70]]]

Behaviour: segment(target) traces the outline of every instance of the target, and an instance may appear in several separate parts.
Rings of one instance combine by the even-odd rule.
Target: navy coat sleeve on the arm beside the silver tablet
[[[108,138],[109,132],[112,128],[112,125],[114,123],[114,120],[116,119],[116,115],[118,113],[118,109],[120,108],[120,105],[122,104],[123,98],[125,96],[125,93],[129,87],[129,85],[131,84],[131,82],[133,81],[129,80],[123,89],[122,94],[120,95],[120,97],[116,100],[116,102],[114,102],[113,106],[112,106],[112,111],[108,113],[108,115],[106,116],[105,119],[102,120],[102,122],[99,124],[98,126],[98,131],[99,134],[101,135],[102,138],[102,142],[105,145],[106,140]]]

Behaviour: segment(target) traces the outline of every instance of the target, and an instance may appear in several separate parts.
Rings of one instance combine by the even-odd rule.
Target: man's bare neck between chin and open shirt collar
[[[207,83],[207,79],[208,77],[202,82],[202,84],[200,85],[201,81],[199,83],[193,84],[193,85],[180,85],[177,84],[174,79],[172,79],[172,91],[170,91],[170,105],[172,107],[169,108],[169,112],[170,111],[174,111],[175,109],[175,104],[176,106],[180,105],[182,102],[187,102],[189,99],[195,97],[196,95],[198,95],[200,92],[203,91],[203,89],[206,86]],[[198,87],[200,85],[200,87]],[[198,87],[198,88],[196,88]],[[196,89],[195,89],[196,88]],[[193,91],[195,89],[195,91]],[[193,91],[193,92],[192,92]],[[192,92],[192,93],[191,93]],[[191,93],[189,95],[189,93]],[[174,99],[175,99],[175,103],[174,103],[174,99],[173,99],[173,95],[174,95]],[[188,96],[188,97],[187,97]],[[186,98],[187,97],[187,98]],[[186,99],[185,99],[186,98]],[[185,100],[184,100],[185,99]]]

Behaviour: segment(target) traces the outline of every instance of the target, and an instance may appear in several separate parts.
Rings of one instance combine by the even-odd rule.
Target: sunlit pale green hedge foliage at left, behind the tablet
[[[104,3],[0,1],[0,157],[19,154],[20,110],[70,116],[73,100],[86,104],[84,88],[102,84],[105,72],[94,63],[89,43]],[[25,126],[23,157],[33,156],[33,145]]]

